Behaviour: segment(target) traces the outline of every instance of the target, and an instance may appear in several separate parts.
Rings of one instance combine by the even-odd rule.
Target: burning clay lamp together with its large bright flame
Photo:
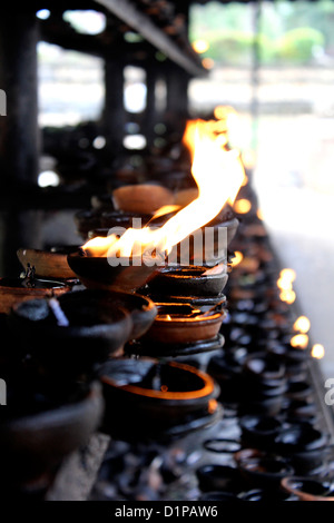
[[[164,266],[171,265],[175,246],[181,244],[183,240],[189,240],[194,231],[214,219],[224,205],[235,198],[245,176],[238,151],[224,150],[208,122],[203,120],[188,122],[185,136],[187,136],[187,142],[191,145],[191,150],[195,151],[191,174],[198,186],[198,198],[178,210],[161,227],[150,227],[148,224],[138,229],[128,228],[121,235],[95,237],[77,254],[69,255],[69,266],[87,287],[107,286],[107,288],[117,287],[128,292],[138,290],[148,283],[157,272],[157,267],[161,269]],[[209,169],[208,158],[212,161]],[[225,176],[222,176],[222,169]],[[137,190],[138,187],[139,185],[135,186]],[[154,195],[157,188],[161,190],[161,187],[151,185],[149,191]],[[128,190],[134,188],[121,187],[121,189],[126,191],[125,201],[129,203]],[[147,188],[145,195],[148,204]],[[222,195],[225,200],[224,197],[222,199]],[[160,200],[156,198],[151,201],[155,206],[154,210],[157,209],[158,201]],[[125,210],[119,201],[117,207]],[[166,209],[166,199],[164,199],[163,208]],[[126,210],[134,211],[134,209]],[[147,208],[145,213],[148,213]],[[161,216],[161,208],[158,208],[157,213]],[[223,244],[222,256],[226,258],[227,245],[226,241]],[[200,255],[203,255],[203,246]],[[213,255],[212,249],[209,262],[213,262]]]

